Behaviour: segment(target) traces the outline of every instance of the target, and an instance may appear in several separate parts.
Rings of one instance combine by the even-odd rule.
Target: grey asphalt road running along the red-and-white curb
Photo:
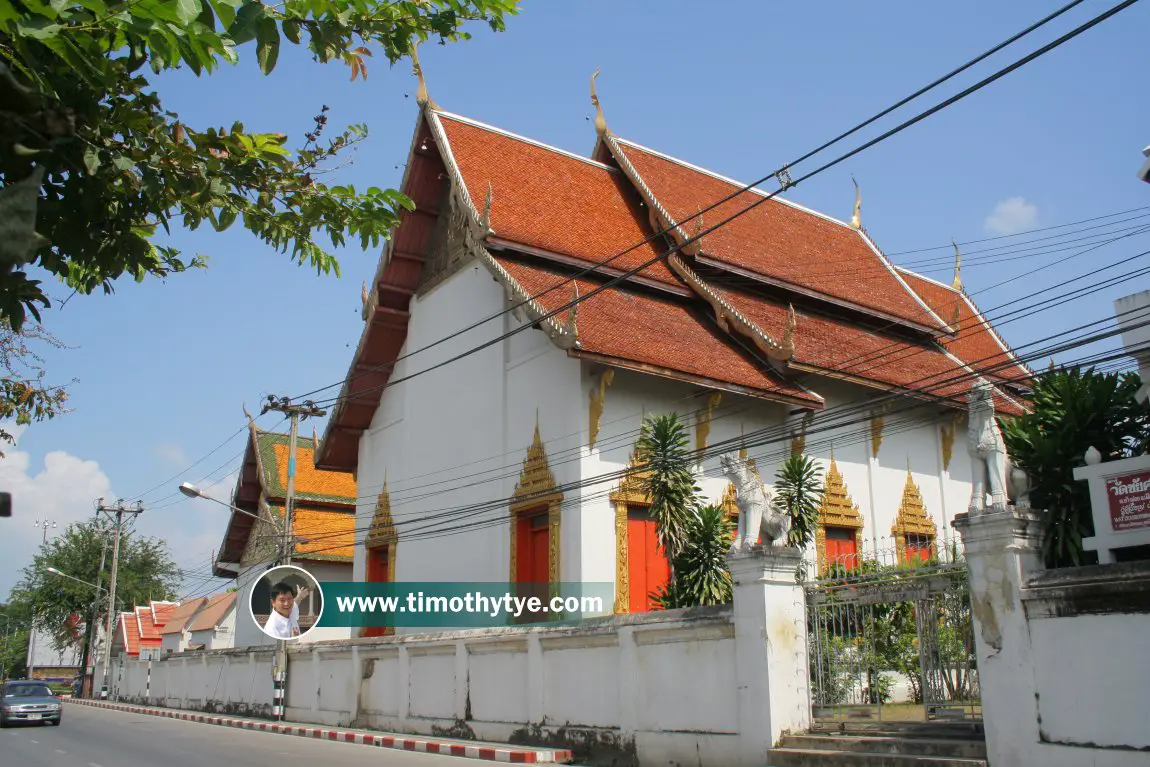
[[[60,727],[0,730],[3,767],[483,767],[478,759],[313,741],[64,705]]]

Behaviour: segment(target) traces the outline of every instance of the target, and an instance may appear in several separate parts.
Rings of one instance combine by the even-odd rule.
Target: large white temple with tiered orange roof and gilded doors
[[[651,608],[667,567],[629,467],[643,419],[672,412],[731,511],[721,453],[767,483],[792,452],[823,466],[820,562],[930,554],[969,503],[954,446],[975,375],[1000,414],[1023,412],[1032,375],[964,292],[957,248],[943,284],[883,255],[858,197],[844,222],[734,194],[612,132],[593,79],[585,156],[425,93],[421,76],[415,209],[314,452],[355,477],[356,580],[612,582],[616,612]]]

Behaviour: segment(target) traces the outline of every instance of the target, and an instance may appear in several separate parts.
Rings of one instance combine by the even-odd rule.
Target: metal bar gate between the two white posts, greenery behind
[[[813,718],[980,720],[961,555],[953,545],[887,554],[834,562],[805,583]]]

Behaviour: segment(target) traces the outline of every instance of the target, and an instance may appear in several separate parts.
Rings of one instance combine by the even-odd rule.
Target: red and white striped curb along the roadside
[[[359,745],[374,745],[383,749],[399,749],[401,751],[420,751],[423,753],[442,753],[450,757],[468,757],[471,759],[486,759],[488,761],[508,761],[514,764],[570,764],[575,757],[565,749],[499,749],[493,746],[462,745],[459,743],[446,743],[443,741],[428,741],[424,738],[401,737],[396,735],[371,735],[370,733],[358,733],[355,730],[329,729],[323,727],[302,727],[299,724],[281,724],[277,722],[264,722],[254,719],[233,719],[231,716],[215,716],[213,714],[199,714],[187,711],[176,711],[172,708],[148,708],[145,706],[131,706],[126,704],[105,703],[102,700],[87,700],[74,698],[68,701],[71,705],[92,706],[94,708],[110,708],[113,711],[124,711],[132,714],[148,714],[151,716],[164,716],[167,719],[179,719],[186,722],[200,722],[204,724],[221,724],[223,727],[236,727],[245,730],[256,730],[260,733],[277,733],[279,735],[296,735],[305,738],[317,738],[320,741],[336,741],[338,743],[356,743]]]

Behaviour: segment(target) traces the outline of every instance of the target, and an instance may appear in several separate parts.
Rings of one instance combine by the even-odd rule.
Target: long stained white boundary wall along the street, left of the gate
[[[292,645],[286,718],[423,735],[466,720],[477,738],[497,742],[536,723],[635,747],[643,764],[682,753],[737,764],[733,612],[624,621]],[[267,647],[154,661],[150,703],[268,715],[271,660]],[[147,662],[116,672],[118,699],[145,703]]]

